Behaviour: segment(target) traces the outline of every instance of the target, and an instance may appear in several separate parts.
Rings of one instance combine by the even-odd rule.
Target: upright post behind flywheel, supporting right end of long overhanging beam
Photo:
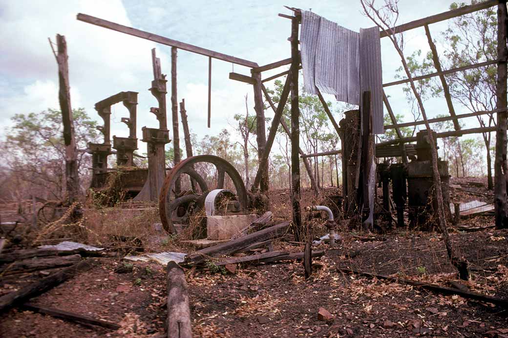
[[[252,74],[254,79],[254,110],[256,111],[256,141],[258,143],[258,159],[259,163],[264,164],[263,168],[258,168],[258,171],[262,171],[260,189],[261,192],[266,192],[269,189],[268,184],[268,161],[262,162],[263,153],[266,148],[266,127],[265,127],[265,107],[263,105],[263,91],[261,89],[261,73]],[[284,103],[285,104],[285,103]],[[282,106],[283,107],[283,106]]]

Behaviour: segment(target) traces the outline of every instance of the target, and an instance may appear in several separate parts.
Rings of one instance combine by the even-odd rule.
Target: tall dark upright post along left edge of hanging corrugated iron
[[[291,58],[292,69],[298,69],[300,53],[298,51],[298,28],[301,16],[291,20]],[[301,233],[302,220],[300,211],[300,109],[298,106],[298,72],[291,72],[291,204],[293,206],[293,232],[295,240],[302,241],[305,235]]]

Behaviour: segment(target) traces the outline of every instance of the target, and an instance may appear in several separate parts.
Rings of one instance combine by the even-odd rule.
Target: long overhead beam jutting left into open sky
[[[153,41],[153,42],[157,42],[157,43],[160,43],[160,44],[163,44],[163,45],[166,45],[166,46],[176,47],[176,48],[180,48],[180,49],[186,50],[188,52],[193,52],[193,53],[197,53],[197,54],[213,57],[213,58],[218,59],[218,60],[232,62],[232,63],[240,64],[240,65],[243,65],[243,66],[246,66],[246,67],[250,67],[250,68],[252,68],[252,67],[258,67],[259,66],[259,64],[257,64],[256,62],[252,62],[252,61],[241,59],[241,58],[238,58],[238,57],[235,57],[235,56],[231,56],[231,55],[226,55],[226,54],[223,54],[223,53],[215,52],[213,50],[209,50],[209,49],[206,49],[206,48],[201,48],[201,47],[198,47],[198,46],[189,45],[189,44],[186,44],[184,42],[180,42],[180,41],[176,41],[176,40],[173,40],[173,39],[165,38],[165,37],[162,37],[160,35],[156,35],[156,34],[144,31],[144,30],[140,30],[140,29],[124,26],[124,25],[121,25],[121,24],[118,24],[118,23],[115,23],[115,22],[111,22],[111,21],[107,21],[107,20],[104,20],[104,19],[96,18],[96,17],[90,16],[90,15],[87,15],[87,14],[79,13],[78,16],[77,16],[77,19],[80,20],[80,21],[83,21],[83,22],[91,23],[91,24],[96,25],[96,26],[101,26],[101,27],[104,27],[104,28],[108,28],[108,29],[119,31],[121,33],[129,34],[129,35],[132,35],[134,37],[138,37],[138,38],[150,40],[150,41]]]

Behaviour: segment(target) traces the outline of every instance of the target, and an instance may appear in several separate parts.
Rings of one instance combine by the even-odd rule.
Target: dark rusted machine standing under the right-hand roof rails
[[[437,140],[434,131],[433,133],[434,140]],[[388,180],[391,180],[393,201],[397,209],[397,226],[404,226],[404,208],[407,202],[409,225],[431,229],[436,224],[434,215],[437,211],[437,200],[433,197],[432,156],[426,130],[417,133],[417,144],[414,149],[416,156],[411,156],[409,163],[380,165],[383,205],[384,208],[389,208]],[[448,162],[438,159],[437,166],[441,178],[443,204],[445,210],[448,210],[450,205]]]

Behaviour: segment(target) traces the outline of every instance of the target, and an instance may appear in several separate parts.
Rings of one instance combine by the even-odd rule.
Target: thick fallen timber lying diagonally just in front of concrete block
[[[282,236],[288,229],[290,222],[284,222],[274,226],[270,226],[260,231],[242,236],[239,239],[215,245],[213,247],[205,248],[196,251],[193,254],[187,255],[185,261],[181,265],[192,265],[205,261],[207,257],[217,257],[219,255],[229,255],[232,252],[239,251],[254,243],[276,239]]]

